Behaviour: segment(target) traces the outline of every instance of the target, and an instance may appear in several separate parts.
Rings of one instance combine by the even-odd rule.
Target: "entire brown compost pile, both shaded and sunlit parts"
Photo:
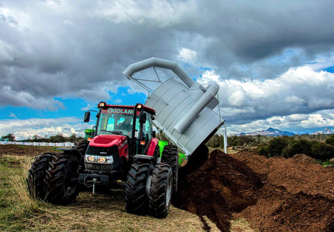
[[[215,150],[181,176],[177,204],[198,214],[206,230],[204,215],[222,231],[229,231],[233,218],[246,218],[261,231],[334,231],[334,168],[307,155],[284,159]]]

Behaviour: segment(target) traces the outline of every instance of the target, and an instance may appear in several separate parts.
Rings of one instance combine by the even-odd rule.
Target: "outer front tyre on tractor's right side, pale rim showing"
[[[170,209],[173,189],[173,175],[170,165],[155,165],[150,186],[149,208],[154,217],[166,217]]]

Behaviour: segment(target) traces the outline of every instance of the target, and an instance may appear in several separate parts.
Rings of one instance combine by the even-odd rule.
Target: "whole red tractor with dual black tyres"
[[[71,204],[79,191],[125,189],[129,213],[165,217],[178,185],[178,149],[163,148],[152,130],[155,110],[98,104],[92,140],[73,148],[46,152],[31,163],[28,189],[33,197],[60,205]],[[85,122],[90,121],[90,111]]]

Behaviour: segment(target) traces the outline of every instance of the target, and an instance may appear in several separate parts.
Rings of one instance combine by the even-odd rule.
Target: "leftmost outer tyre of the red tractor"
[[[45,200],[46,192],[44,190],[44,178],[46,177],[46,170],[49,168],[49,162],[55,153],[45,152],[36,156],[31,162],[28,170],[27,185],[31,197]]]

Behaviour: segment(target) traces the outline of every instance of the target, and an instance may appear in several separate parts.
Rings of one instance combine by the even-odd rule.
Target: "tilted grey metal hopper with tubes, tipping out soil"
[[[152,67],[169,69],[178,77],[165,82],[161,82],[158,77],[158,81],[153,82],[161,84],[155,90],[140,82],[152,80],[132,77],[135,73]],[[202,86],[176,62],[152,57],[130,65],[122,74],[151,93],[145,105],[156,110],[154,126],[186,156],[191,155],[201,143],[209,140],[225,122],[213,110],[219,104],[216,98],[219,85],[214,83]],[[226,152],[226,143],[224,146]]]

